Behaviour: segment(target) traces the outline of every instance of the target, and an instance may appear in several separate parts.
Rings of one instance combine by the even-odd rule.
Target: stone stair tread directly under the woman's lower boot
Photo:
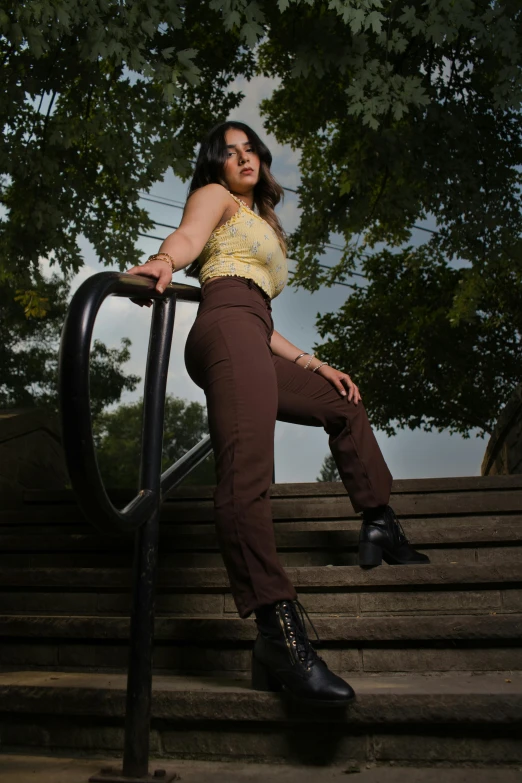
[[[522,673],[349,675],[357,699],[327,719],[350,723],[511,723],[522,720]],[[3,711],[46,710],[123,717],[124,674],[16,671],[0,673]],[[279,694],[253,691],[248,680],[158,675],[153,719],[184,721],[315,720],[317,709],[292,707]]]

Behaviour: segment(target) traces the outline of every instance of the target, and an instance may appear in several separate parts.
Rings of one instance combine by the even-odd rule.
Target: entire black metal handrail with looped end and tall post
[[[122,772],[123,777],[143,780],[148,779],[160,506],[167,492],[212,451],[207,436],[161,474],[167,371],[176,301],[198,302],[200,290],[172,283],[159,294],[154,286],[154,281],[142,276],[118,272],[100,272],[88,278],[71,300],[59,359],[63,446],[78,504],[89,521],[103,533],[136,532]],[[89,392],[94,323],[102,303],[111,295],[154,300],[145,375],[139,492],[121,510],[107,495],[98,469]],[[118,775],[103,775],[92,780],[110,781]]]

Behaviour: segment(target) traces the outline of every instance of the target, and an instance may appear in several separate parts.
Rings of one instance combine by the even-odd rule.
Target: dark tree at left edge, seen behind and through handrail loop
[[[0,282],[0,406],[58,408],[58,346],[67,310],[68,284],[57,276],[44,279],[35,272],[30,288],[16,289]],[[91,398],[96,414],[117,402],[123,391],[133,391],[140,378],[126,375],[122,365],[130,358],[130,340],[108,348],[95,340],[91,351]]]

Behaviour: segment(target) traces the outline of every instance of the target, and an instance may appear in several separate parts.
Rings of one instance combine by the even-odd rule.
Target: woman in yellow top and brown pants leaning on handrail
[[[286,246],[274,212],[282,188],[272,157],[247,125],[226,122],[201,145],[180,227],[130,274],[157,280],[191,265],[202,301],[185,361],[206,395],[216,462],[215,522],[241,617],[258,625],[252,684],[314,703],[344,704],[352,688],[308,640],[279,563],[269,489],[276,419],[322,426],[363,523],[361,565],[426,562],[388,506],[391,475],[350,376],[274,331],[270,301],[284,288]],[[254,211],[257,208],[257,212]]]

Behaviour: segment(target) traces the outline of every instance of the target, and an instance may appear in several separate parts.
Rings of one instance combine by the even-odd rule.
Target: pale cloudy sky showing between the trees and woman
[[[241,80],[237,86],[245,94],[245,98],[232,118],[251,125],[261,138],[266,140],[274,156],[272,164],[274,175],[282,185],[295,188],[299,183],[298,153],[289,147],[280,146],[273,137],[266,134],[257,110],[259,101],[270,93],[273,82],[258,78],[250,83]],[[154,186],[152,194],[161,198],[184,201],[186,191],[187,184],[169,173],[163,183]],[[179,223],[180,209],[150,202],[144,204],[150,209],[153,220],[170,225]],[[285,203],[278,211],[285,230],[290,233],[296,227],[299,218],[296,197],[287,192]],[[166,236],[169,229],[158,228],[153,233],[157,236]],[[157,240],[142,239],[140,247],[143,249],[144,259],[155,252],[158,246]],[[92,248],[86,242],[83,243],[82,249],[86,265],[75,278],[72,291],[94,272],[108,269],[100,267]],[[331,258],[327,256],[326,262],[332,262],[337,257],[338,254],[331,251]],[[179,282],[195,282],[193,279],[187,280],[183,272],[177,273],[174,279]],[[287,287],[273,302],[275,328],[301,350],[308,351],[315,342],[319,341],[315,329],[317,314],[338,309],[348,295],[349,289],[342,286],[324,288],[314,294]],[[188,377],[183,362],[183,349],[196,309],[195,304],[178,305],[168,392],[204,404],[204,395]],[[127,299],[111,298],[100,312],[95,337],[102,339],[109,346],[118,345],[121,337],[130,337],[132,357],[126,365],[126,370],[143,378],[149,324],[150,310],[133,305]],[[357,368],[350,369],[350,374],[357,382]],[[143,387],[140,386],[132,394],[124,395],[122,401],[128,402],[138,398],[142,390]],[[479,475],[487,443],[487,440],[474,435],[464,439],[445,433],[409,430],[399,431],[393,438],[379,431],[376,431],[376,435],[395,478]],[[275,436],[276,481],[315,481],[327,452],[327,436],[323,430],[278,423]]]

